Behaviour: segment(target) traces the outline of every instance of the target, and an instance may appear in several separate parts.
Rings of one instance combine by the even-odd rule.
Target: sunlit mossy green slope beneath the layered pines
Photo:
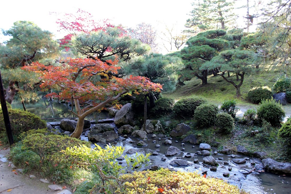
[[[257,86],[269,86],[272,89],[278,77],[282,75],[281,67],[276,65],[260,67],[258,72],[245,74],[244,82],[240,87],[242,94],[240,97],[236,97],[236,89],[231,83],[226,82],[221,76],[213,75],[208,76],[208,83],[205,86],[202,86],[200,79],[194,77],[191,81],[185,81],[185,85],[177,88],[175,92],[163,93],[163,96],[179,100],[191,95],[201,95],[214,103],[220,104],[225,99],[236,99],[239,105],[251,105],[247,100],[247,92],[250,89]],[[230,74],[230,79],[235,81],[235,74]]]

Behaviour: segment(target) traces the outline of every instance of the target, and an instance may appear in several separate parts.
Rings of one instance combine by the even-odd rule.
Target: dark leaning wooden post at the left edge
[[[6,128],[8,143],[9,145],[12,145],[14,142],[13,142],[11,125],[10,125],[10,120],[9,120],[9,115],[8,115],[8,109],[7,109],[6,100],[5,100],[1,71],[0,71],[0,102],[1,102],[2,112],[3,112],[3,118],[4,118],[4,124]]]

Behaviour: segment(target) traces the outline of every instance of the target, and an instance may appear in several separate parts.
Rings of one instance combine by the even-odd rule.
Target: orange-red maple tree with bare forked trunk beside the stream
[[[148,91],[159,92],[162,89],[160,84],[152,83],[142,76],[127,78],[110,76],[111,73],[117,74],[120,69],[116,66],[117,63],[118,60],[109,60],[105,63],[99,59],[68,58],[60,66],[45,66],[36,62],[22,69],[41,73],[40,79],[43,83],[40,87],[43,90],[52,86],[58,86],[61,89],[60,93],[51,93],[47,97],[74,102],[76,111],[71,109],[71,112],[78,117],[78,121],[71,137],[79,138],[84,128],[85,117],[107,103],[127,92],[146,94]]]

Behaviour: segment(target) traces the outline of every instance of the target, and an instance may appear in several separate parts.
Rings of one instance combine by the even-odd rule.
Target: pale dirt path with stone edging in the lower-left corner
[[[69,194],[68,188],[62,191],[52,191],[48,186],[52,183],[43,183],[38,177],[30,178],[15,169],[13,172],[7,158],[10,148],[0,146],[0,193],[1,194]],[[36,175],[37,176],[37,175]]]

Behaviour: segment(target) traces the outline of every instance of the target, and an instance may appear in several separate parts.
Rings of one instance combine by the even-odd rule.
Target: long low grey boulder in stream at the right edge
[[[262,163],[266,170],[272,172],[291,173],[291,163],[277,162],[273,159],[263,159]]]

